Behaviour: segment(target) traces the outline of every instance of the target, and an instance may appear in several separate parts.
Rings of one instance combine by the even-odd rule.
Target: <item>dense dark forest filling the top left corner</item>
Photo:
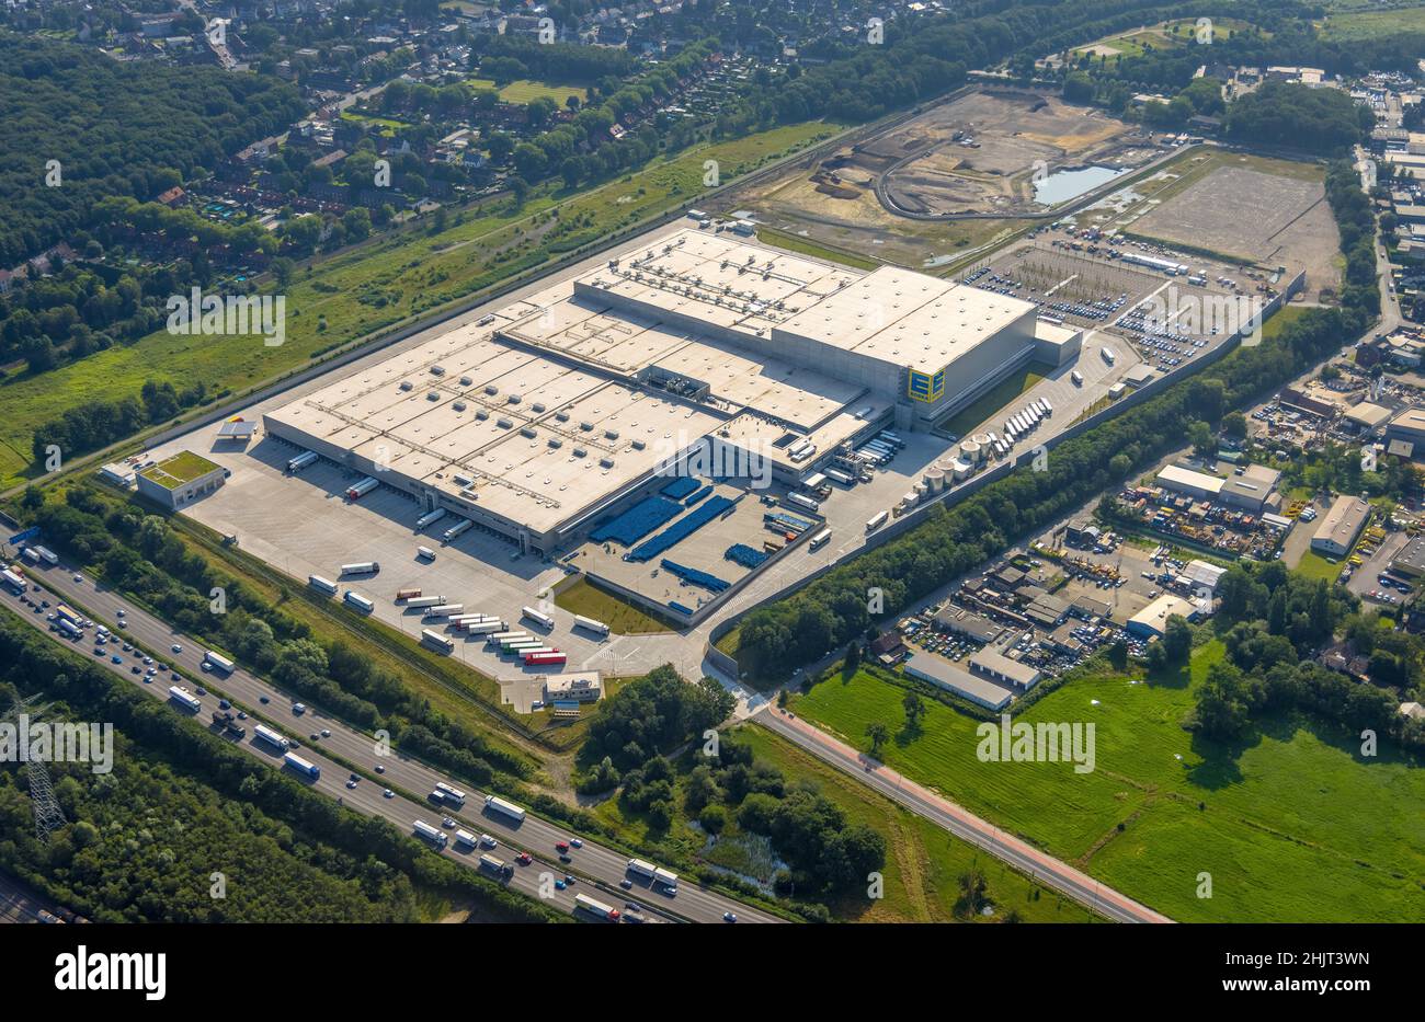
[[[302,112],[275,78],[0,33],[0,268],[71,241],[100,199],[152,199]]]

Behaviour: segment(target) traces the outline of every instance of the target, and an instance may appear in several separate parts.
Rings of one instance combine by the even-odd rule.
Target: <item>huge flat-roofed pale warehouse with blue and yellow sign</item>
[[[685,229],[268,413],[266,433],[549,552],[693,450],[794,481],[925,427],[1080,333],[901,269]],[[795,461],[807,441],[815,455]],[[724,473],[727,474],[727,473]]]

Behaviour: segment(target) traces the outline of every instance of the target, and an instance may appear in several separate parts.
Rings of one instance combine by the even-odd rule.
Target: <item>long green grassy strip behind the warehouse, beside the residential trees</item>
[[[422,221],[321,259],[286,289],[286,342],[276,347],[249,334],[160,330],[54,372],[6,381],[0,386],[0,488],[34,471],[33,427],[68,409],[97,397],[137,396],[145,380],[170,380],[180,389],[201,380],[209,393],[252,389],[306,367],[321,353],[415,322],[688,201],[703,189],[704,159],[720,161],[724,177],[734,178],[835,131],[824,122],[788,125],[660,159],[569,198],[534,192],[519,211],[489,202],[452,212],[450,226],[439,233]]]

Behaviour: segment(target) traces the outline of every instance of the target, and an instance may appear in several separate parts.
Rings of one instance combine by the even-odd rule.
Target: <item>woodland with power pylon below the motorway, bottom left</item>
[[[259,763],[200,722],[0,612],[0,702],[41,696],[46,720],[104,720],[114,770],[54,764],[67,824],[34,837],[28,767],[0,766],[0,870],[95,922],[399,922],[418,894],[489,918],[563,914],[430,854]],[[222,873],[227,897],[212,898]]]

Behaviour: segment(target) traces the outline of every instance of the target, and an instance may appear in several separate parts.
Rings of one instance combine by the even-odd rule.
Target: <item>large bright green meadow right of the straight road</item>
[[[1234,747],[1181,727],[1220,643],[1193,668],[1141,680],[1074,680],[1026,710],[1033,722],[1096,726],[1096,769],[982,763],[975,722],[928,702],[905,730],[902,689],[865,673],[834,678],[792,709],[868,747],[868,722],[892,732],[882,759],[1180,921],[1406,921],[1425,885],[1425,770],[1314,722],[1268,720]],[[1130,683],[1139,682],[1139,683]],[[1121,830],[1119,830],[1121,824]],[[1213,897],[1200,898],[1200,874]]]

